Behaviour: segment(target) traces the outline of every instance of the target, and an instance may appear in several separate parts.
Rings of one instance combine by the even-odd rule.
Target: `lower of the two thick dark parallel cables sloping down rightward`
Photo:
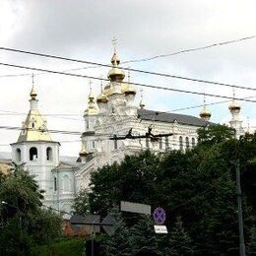
[[[60,72],[60,71],[54,71],[54,70],[48,70],[48,69],[41,69],[41,68],[34,68],[34,67],[29,67],[29,66],[21,66],[21,65],[9,64],[9,63],[3,63],[3,62],[1,62],[0,65],[14,67],[14,68],[29,69],[29,70],[34,70],[34,71],[48,72],[51,74],[59,74],[59,75],[65,75],[65,76],[71,76],[71,77],[87,78],[87,79],[100,80],[100,81],[102,81],[102,80],[109,81],[108,79],[97,78],[97,77],[93,77],[93,76],[72,74],[72,73],[66,73],[66,72]],[[176,93],[184,93],[184,94],[199,95],[199,96],[214,96],[214,97],[233,99],[233,97],[231,97],[231,96],[213,95],[213,94],[199,93],[199,92],[180,90],[180,89],[172,89],[172,88],[140,84],[140,83],[125,82],[125,84],[135,85],[135,86],[139,86],[139,87],[146,87],[146,88],[151,88],[151,89],[159,89],[159,90],[164,90],[164,91],[171,91],[171,92],[176,92]],[[253,90],[256,91],[256,89],[253,89]],[[242,98],[242,97],[235,97],[235,99],[241,100],[241,101],[247,101],[247,102],[254,102],[254,103],[256,102],[256,100],[246,99],[246,98]]]

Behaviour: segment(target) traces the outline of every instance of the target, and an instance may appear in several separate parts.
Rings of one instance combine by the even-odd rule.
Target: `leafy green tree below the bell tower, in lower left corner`
[[[41,208],[42,191],[21,166],[0,177],[0,254],[25,254],[60,235],[61,217]]]

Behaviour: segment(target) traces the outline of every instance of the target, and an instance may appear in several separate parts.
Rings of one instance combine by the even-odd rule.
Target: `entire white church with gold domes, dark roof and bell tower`
[[[12,160],[24,163],[34,175],[40,189],[45,191],[45,206],[71,212],[75,193],[89,188],[91,173],[98,167],[146,149],[156,153],[191,149],[197,144],[197,129],[209,124],[211,112],[205,105],[200,118],[147,110],[143,99],[139,106],[135,105],[136,89],[129,79],[124,82],[125,74],[119,63],[114,51],[107,75],[108,84],[104,88],[101,86],[101,94],[97,97],[93,96],[91,89],[84,113],[82,150],[77,161],[60,159],[60,144],[51,139],[46,120],[38,110],[38,99],[32,85],[30,111],[18,141],[11,144]],[[229,110],[232,114],[230,125],[241,135],[239,104],[233,100]],[[146,138],[133,138],[147,134]],[[158,134],[169,136],[157,139],[151,136]],[[114,139],[120,137],[126,138]]]

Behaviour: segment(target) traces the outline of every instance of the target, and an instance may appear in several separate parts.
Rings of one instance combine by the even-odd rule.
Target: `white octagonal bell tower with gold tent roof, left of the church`
[[[60,144],[52,141],[47,121],[38,110],[33,76],[30,96],[30,110],[23,122],[20,136],[16,143],[11,144],[12,160],[17,164],[25,163],[25,168],[34,175],[39,188],[45,191],[44,203],[51,206],[54,185],[51,169],[59,163]]]

